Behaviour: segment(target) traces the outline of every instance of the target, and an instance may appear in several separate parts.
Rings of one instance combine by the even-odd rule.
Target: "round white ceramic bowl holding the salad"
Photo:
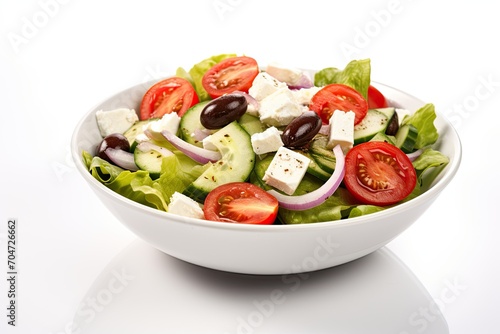
[[[247,274],[288,274],[340,265],[384,246],[413,224],[456,174],[461,144],[451,124],[438,113],[435,148],[449,164],[421,196],[394,208],[342,221],[304,225],[245,225],[186,218],[138,204],[94,179],[83,150],[94,152],[102,139],[95,120],[99,109],[135,108],[152,83],[126,89],[90,110],[77,125],[71,151],[78,171],[104,205],[138,237],[178,259],[213,269]],[[377,88],[399,107],[416,110],[424,103],[391,87]]]

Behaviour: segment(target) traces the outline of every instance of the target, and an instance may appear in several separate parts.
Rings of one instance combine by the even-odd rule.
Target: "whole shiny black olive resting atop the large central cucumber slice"
[[[240,118],[246,111],[245,96],[227,94],[210,101],[201,111],[200,122],[207,129],[220,129]]]

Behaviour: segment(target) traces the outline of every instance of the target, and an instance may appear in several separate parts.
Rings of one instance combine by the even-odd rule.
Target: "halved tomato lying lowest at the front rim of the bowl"
[[[278,215],[278,200],[251,183],[232,182],[208,194],[203,212],[208,220],[268,225]]]

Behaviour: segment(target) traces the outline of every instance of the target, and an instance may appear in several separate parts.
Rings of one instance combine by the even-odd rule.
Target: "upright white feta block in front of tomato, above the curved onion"
[[[347,152],[354,145],[354,112],[344,112],[335,110],[330,117],[330,137],[328,139],[328,148],[334,148],[337,145]]]

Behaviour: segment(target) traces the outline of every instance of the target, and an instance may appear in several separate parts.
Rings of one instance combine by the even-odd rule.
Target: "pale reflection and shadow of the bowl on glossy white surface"
[[[435,333],[432,297],[387,248],[321,271],[258,276],[183,262],[137,240],[83,297],[74,333]]]

